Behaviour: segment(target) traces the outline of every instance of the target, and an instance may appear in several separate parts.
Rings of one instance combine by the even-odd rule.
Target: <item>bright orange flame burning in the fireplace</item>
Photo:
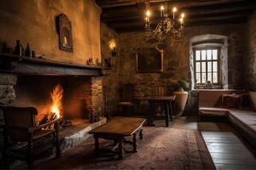
[[[50,94],[50,97],[52,99],[52,105],[50,106],[50,111],[55,114],[56,119],[61,118],[61,100],[63,96],[63,88],[60,84],[57,84],[53,91]]]

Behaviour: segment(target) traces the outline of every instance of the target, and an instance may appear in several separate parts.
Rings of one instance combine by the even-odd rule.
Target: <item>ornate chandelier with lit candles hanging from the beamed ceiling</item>
[[[148,42],[165,42],[168,35],[172,35],[175,39],[179,39],[183,36],[184,30],[184,17],[185,14],[180,14],[177,17],[177,8],[172,8],[172,15],[167,13],[167,3],[165,6],[160,6],[160,22],[154,29],[151,27],[150,22],[151,12],[148,9],[145,17],[145,39]]]

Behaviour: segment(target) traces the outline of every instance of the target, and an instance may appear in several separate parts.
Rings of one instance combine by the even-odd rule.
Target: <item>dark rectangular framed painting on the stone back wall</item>
[[[162,72],[163,51],[157,48],[137,48],[137,72]]]

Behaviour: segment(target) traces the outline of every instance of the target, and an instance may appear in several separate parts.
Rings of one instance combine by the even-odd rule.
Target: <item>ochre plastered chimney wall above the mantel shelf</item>
[[[72,53],[59,49],[55,24],[59,14],[67,14],[72,23]],[[0,43],[15,47],[20,39],[46,59],[85,65],[90,57],[94,62],[101,57],[100,14],[95,0],[1,0]]]

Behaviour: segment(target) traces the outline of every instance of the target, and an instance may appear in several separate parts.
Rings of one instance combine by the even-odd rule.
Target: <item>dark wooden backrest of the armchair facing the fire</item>
[[[27,132],[24,128],[36,126],[35,116],[38,110],[34,107],[14,106],[2,106],[0,109],[3,110],[5,135],[16,141],[26,141]]]

